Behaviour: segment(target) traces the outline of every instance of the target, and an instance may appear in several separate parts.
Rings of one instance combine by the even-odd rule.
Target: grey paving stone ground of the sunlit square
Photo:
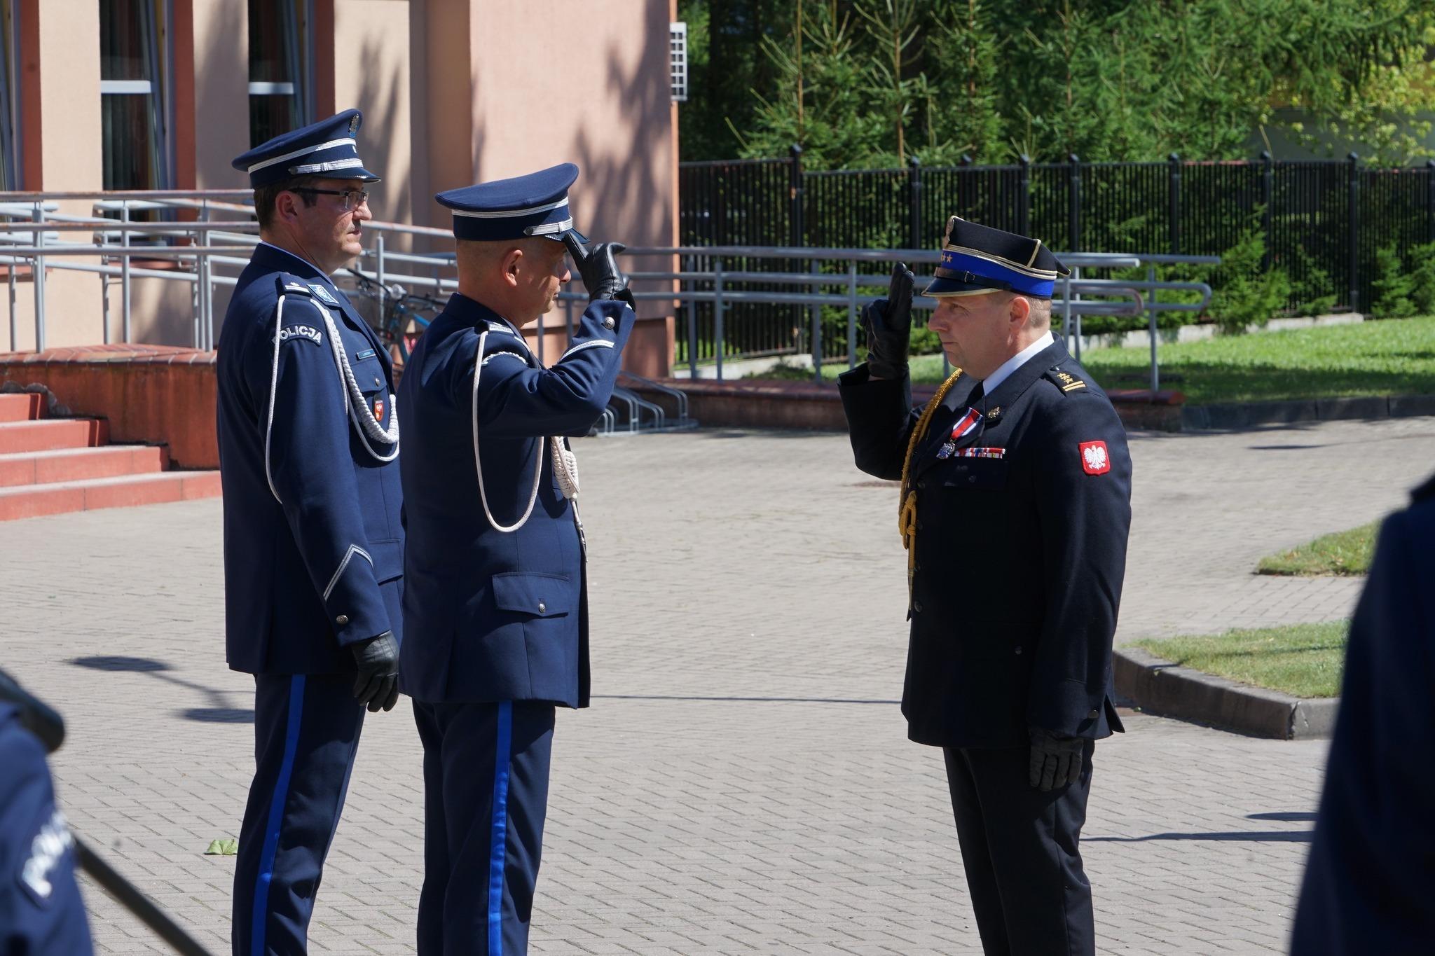
[[[1370,520],[1435,469],[1435,420],[1135,436],[1121,636],[1313,621],[1358,582],[1256,558]],[[832,434],[578,443],[594,707],[561,712],[531,952],[979,953],[940,754],[905,741],[895,492]],[[222,662],[217,500],[0,525],[3,666],[70,737],[62,803],[227,952],[253,681]],[[1280,952],[1325,744],[1134,715],[1096,748],[1083,853],[1102,953]],[[422,778],[370,717],[316,953],[412,953]],[[161,945],[86,883],[98,949]]]

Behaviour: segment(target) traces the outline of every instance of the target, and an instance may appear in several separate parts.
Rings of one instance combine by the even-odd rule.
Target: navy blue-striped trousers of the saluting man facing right
[[[521,956],[548,811],[554,705],[420,704],[418,956]]]

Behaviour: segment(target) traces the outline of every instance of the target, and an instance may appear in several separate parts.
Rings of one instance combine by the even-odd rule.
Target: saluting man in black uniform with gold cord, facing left
[[[1131,456],[1052,337],[1065,274],[1040,241],[953,216],[926,294],[959,371],[911,407],[898,265],[864,310],[868,361],[841,377],[857,467],[903,483],[908,737],[943,748],[982,945],[1017,956],[1095,952],[1078,838],[1095,741],[1122,730]]]

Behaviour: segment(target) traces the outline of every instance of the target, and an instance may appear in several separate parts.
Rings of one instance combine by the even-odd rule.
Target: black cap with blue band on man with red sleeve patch
[[[941,244],[941,264],[926,295],[1007,291],[1050,298],[1056,277],[1068,272],[1040,239],[951,216]]]

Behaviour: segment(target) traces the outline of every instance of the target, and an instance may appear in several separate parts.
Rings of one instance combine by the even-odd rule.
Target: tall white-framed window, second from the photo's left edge
[[[172,0],[99,0],[105,189],[172,185]]]

